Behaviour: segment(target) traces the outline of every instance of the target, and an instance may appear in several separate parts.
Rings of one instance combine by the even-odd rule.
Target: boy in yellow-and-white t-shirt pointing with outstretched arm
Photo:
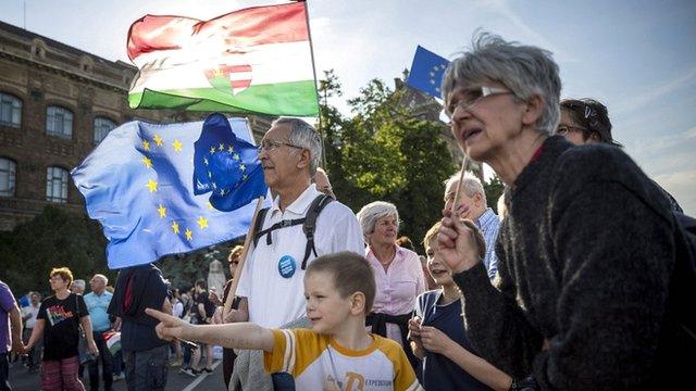
[[[372,268],[351,252],[312,261],[304,274],[308,329],[268,329],[250,323],[189,325],[147,310],[158,336],[225,348],[263,350],[268,373],[295,377],[297,390],[422,390],[401,346],[365,331],[375,295]]]

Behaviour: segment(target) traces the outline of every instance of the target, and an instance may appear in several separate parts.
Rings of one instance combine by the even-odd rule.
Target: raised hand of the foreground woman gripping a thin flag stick
[[[481,262],[474,237],[476,228],[471,220],[452,217],[449,210],[444,210],[443,215],[437,231],[438,251],[452,273],[468,270]]]

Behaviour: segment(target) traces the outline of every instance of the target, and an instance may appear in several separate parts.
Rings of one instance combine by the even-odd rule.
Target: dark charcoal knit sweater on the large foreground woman
[[[483,264],[453,276],[484,358],[542,389],[666,386],[688,373],[678,357],[693,351],[667,305],[683,256],[674,216],[625,153],[550,137],[506,198],[498,289]]]

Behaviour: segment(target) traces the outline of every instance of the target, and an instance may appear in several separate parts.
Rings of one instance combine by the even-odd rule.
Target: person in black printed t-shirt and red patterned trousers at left
[[[55,294],[41,303],[24,352],[28,353],[44,337],[41,390],[84,390],[84,384],[77,378],[79,326],[85,332],[87,349],[91,354],[99,355],[89,313],[83,297],[67,290],[73,281],[73,274],[67,267],[53,268],[50,277],[51,290]]]

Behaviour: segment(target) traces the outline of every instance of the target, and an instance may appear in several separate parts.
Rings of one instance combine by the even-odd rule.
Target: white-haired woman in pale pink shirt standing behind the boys
[[[391,203],[375,201],[358,212],[358,220],[368,247],[365,257],[375,275],[377,294],[366,325],[372,332],[397,341],[415,364],[409,343],[408,321],[415,298],[425,291],[425,277],[417,253],[396,244],[399,212]],[[410,354],[409,354],[410,353]]]

